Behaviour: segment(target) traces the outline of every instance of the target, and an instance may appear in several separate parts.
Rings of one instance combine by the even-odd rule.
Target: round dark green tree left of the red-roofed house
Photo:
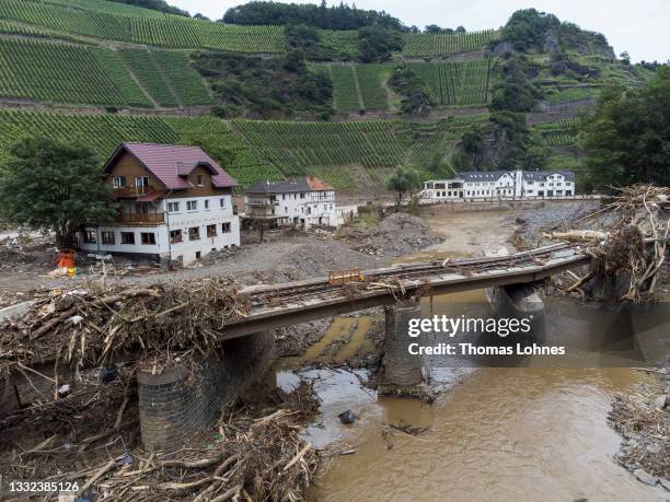
[[[0,166],[0,210],[12,223],[55,232],[60,249],[73,248],[83,223],[116,214],[103,179],[100,159],[89,147],[23,138]]]

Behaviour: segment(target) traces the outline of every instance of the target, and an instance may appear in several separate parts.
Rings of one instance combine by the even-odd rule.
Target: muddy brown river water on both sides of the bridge
[[[442,214],[429,221],[448,238],[419,254],[420,259],[475,256],[484,245],[504,243],[513,227],[510,213]],[[556,302],[547,317],[548,338],[593,336],[593,322],[584,322],[588,311]],[[473,305],[484,305],[484,294],[441,296],[432,305],[425,301],[423,310],[453,314],[459,304],[477,308]],[[330,341],[346,332],[347,341],[333,358],[356,353],[372,322],[366,316],[337,320],[305,359],[317,359]],[[308,431],[310,441],[335,453],[355,450],[325,460],[310,491],[315,501],[666,500],[662,489],[640,483],[614,462],[621,436],[607,423],[616,393],[635,393],[643,381],[654,385],[654,380],[631,369],[581,363],[452,369],[429,361],[434,382],[448,388],[432,405],[379,398],[359,385],[365,372],[280,372],[277,380],[287,387],[299,376],[313,380],[322,410]],[[360,417],[353,425],[337,420],[347,409]],[[413,435],[389,424],[425,431]]]

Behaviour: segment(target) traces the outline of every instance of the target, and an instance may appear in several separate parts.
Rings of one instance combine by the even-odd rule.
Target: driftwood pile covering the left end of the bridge
[[[79,372],[140,352],[159,366],[176,357],[183,362],[189,353],[209,353],[227,319],[247,310],[234,285],[213,279],[53,292],[22,319],[0,322],[0,377],[39,362]]]

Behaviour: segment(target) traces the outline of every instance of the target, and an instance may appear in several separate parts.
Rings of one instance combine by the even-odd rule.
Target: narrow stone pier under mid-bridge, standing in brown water
[[[409,353],[409,343],[418,339],[408,336],[409,319],[420,318],[420,302],[386,306],[384,371],[378,390],[386,396],[420,396],[421,358]]]

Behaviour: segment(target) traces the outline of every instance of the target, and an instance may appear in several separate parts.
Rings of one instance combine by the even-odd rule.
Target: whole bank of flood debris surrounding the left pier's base
[[[77,481],[89,500],[304,499],[320,462],[300,435],[319,407],[309,384],[291,393],[255,389],[253,399],[241,397],[215,427],[170,454],[142,450],[134,392],[118,382],[88,387],[22,412],[21,423],[0,432],[7,453],[0,471],[12,479]]]

